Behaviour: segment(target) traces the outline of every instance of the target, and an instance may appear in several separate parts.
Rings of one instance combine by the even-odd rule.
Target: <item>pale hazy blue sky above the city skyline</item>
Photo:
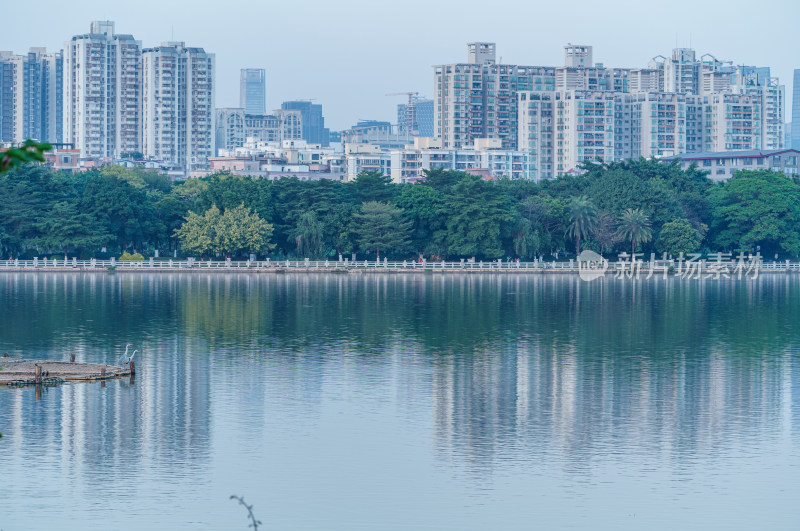
[[[315,99],[326,125],[396,120],[402,96],[433,96],[432,65],[466,61],[466,43],[497,43],[509,64],[563,63],[563,45],[591,44],[606,66],[643,67],[689,45],[737,64],[772,67],[786,85],[800,68],[798,0],[76,0],[6,2],[0,50],[59,49],[92,20],[116,22],[145,47],[174,39],[217,58],[218,107],[238,106],[239,69],[265,68],[267,108]],[[35,16],[29,15],[35,13]],[[8,23],[13,20],[13,23]]]

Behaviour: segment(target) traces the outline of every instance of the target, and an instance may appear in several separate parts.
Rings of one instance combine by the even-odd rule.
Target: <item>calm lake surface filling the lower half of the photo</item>
[[[798,529],[800,277],[0,274],[0,529]]]

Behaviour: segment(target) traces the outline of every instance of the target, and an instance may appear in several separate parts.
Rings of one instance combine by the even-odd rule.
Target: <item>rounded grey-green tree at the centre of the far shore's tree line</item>
[[[388,203],[368,201],[354,216],[358,244],[364,251],[375,251],[380,260],[384,252],[402,253],[410,246],[411,222],[403,217],[403,210]]]

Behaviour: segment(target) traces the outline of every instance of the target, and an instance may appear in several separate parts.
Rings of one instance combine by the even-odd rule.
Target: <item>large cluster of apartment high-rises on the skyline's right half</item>
[[[499,139],[531,154],[531,179],[598,159],[783,147],[784,87],[769,68],[685,48],[644,68],[594,63],[585,45],[565,46],[564,59],[561,67],[499,64],[494,43],[475,42],[467,62],[434,67],[443,147]]]

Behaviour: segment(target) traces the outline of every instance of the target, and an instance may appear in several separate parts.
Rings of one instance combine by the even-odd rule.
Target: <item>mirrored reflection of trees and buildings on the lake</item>
[[[0,466],[61,477],[15,496],[80,485],[99,507],[149,495],[128,492],[146,474],[210,485],[220,452],[263,456],[267,435],[306,437],[336,407],[395,415],[431,437],[436,463],[478,480],[507,463],[586,477],[630,457],[680,474],[731,448],[796,444],[798,288],[794,276],[7,274],[0,351],[108,362],[131,342],[139,374],[39,401],[0,389]]]

